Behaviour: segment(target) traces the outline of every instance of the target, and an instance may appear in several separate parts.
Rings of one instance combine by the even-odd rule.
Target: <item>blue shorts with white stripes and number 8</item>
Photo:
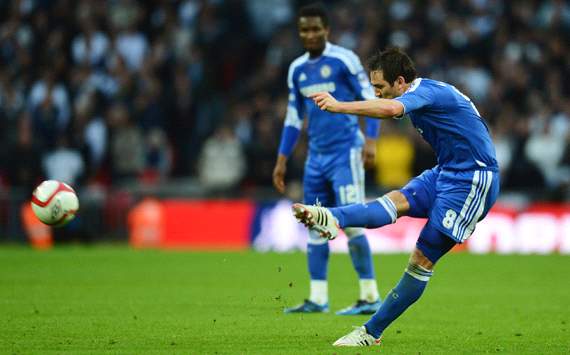
[[[497,200],[499,184],[495,171],[448,171],[436,166],[401,192],[410,203],[409,216],[428,218],[434,228],[463,243]]]

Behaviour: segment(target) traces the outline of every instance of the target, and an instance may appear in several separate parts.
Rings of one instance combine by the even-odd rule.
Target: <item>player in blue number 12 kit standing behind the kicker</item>
[[[309,153],[303,178],[305,203],[340,206],[363,202],[362,154],[364,151],[365,160],[374,162],[379,121],[367,119],[364,138],[356,115],[321,111],[309,96],[327,91],[343,100],[374,99],[374,90],[358,57],[352,51],[327,41],[328,18],[322,7],[310,5],[301,8],[298,30],[307,52],[289,67],[289,104],[273,170],[273,183],[279,192],[285,191],[287,158],[297,142],[306,116]],[[360,295],[354,305],[337,314],[373,314],[381,302],[368,240],[362,228],[346,228],[344,232],[349,238],[350,256],[360,280]],[[309,235],[310,296],[302,304],[285,309],[286,313],[328,312],[329,309],[328,241],[313,231]]]

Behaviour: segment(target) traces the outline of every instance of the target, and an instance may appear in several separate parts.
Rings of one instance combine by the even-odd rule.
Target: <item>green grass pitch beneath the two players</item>
[[[406,255],[376,255],[381,294]],[[0,353],[570,353],[570,257],[441,260],[424,297],[380,348],[331,343],[368,317],[285,315],[308,294],[305,255],[0,248]],[[331,310],[357,298],[331,255]]]

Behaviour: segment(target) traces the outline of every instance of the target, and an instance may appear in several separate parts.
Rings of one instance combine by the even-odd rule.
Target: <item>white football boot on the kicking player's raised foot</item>
[[[333,240],[338,235],[338,221],[328,208],[295,203],[292,209],[299,223],[319,233],[322,238]]]

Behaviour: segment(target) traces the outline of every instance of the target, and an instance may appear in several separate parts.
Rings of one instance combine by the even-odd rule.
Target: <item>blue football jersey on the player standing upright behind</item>
[[[310,59],[309,53],[305,53],[291,63],[287,84],[289,104],[285,127],[300,130],[303,118],[307,116],[311,152],[330,153],[362,145],[357,116],[322,111],[309,98],[322,91],[332,93],[340,101],[375,98],[368,76],[354,52],[327,43],[318,58]]]

